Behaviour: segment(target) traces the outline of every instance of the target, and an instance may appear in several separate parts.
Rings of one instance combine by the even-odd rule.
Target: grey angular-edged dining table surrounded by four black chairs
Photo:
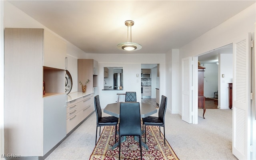
[[[120,103],[126,103],[126,102],[116,102],[107,104],[107,106],[104,108],[103,112],[106,114],[109,114],[111,116],[115,116],[119,118],[120,115]],[[145,118],[147,116],[150,116],[152,114],[157,113],[157,109],[152,106],[152,104],[148,103],[142,103],[140,102],[140,117]],[[121,137],[121,142],[126,140],[126,136]],[[134,136],[134,139],[139,142],[139,138],[137,136]],[[112,149],[116,148],[118,146],[118,142],[112,146]],[[148,150],[148,146],[146,143],[142,141],[142,146],[144,146]]]

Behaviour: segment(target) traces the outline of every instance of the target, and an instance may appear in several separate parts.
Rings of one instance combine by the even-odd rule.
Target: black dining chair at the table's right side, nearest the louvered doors
[[[148,116],[148,117],[142,118],[143,126],[145,126],[145,143],[146,143],[146,125],[159,126],[159,134],[161,136],[160,127],[164,127],[164,116],[166,112],[166,107],[167,107],[167,97],[162,95],[160,107],[158,110],[158,117]],[[165,130],[164,130],[164,146],[165,146]]]

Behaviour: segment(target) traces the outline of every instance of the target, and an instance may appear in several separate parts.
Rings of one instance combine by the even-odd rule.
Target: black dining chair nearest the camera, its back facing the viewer
[[[119,116],[119,160],[121,153],[122,136],[138,136],[140,145],[140,159],[142,159],[141,147],[141,120],[139,102],[121,102]]]

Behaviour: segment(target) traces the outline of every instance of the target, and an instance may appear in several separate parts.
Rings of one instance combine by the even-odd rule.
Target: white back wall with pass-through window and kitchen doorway
[[[116,102],[116,93],[126,91],[136,91],[137,101],[141,101],[141,78],[136,77],[136,74],[141,73],[141,64],[160,64],[160,72],[162,72],[159,82],[162,88],[160,94],[165,95],[165,54],[86,54],[86,58],[98,61],[98,93],[102,108],[105,108],[108,103]],[[123,90],[102,90],[104,67],[123,67]],[[120,96],[120,101],[124,101],[124,96]]]

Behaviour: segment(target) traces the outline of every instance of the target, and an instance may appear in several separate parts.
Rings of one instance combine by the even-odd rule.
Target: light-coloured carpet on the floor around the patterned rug
[[[198,124],[166,112],[166,140],[180,160],[237,160],[232,154],[232,110],[198,109]],[[108,116],[103,113],[103,116]],[[153,116],[157,116],[157,113]],[[103,130],[103,128],[102,128]],[[163,129],[161,128],[161,131]],[[46,160],[88,160],[95,147],[96,114],[92,114]],[[99,138],[99,136],[98,136]]]

